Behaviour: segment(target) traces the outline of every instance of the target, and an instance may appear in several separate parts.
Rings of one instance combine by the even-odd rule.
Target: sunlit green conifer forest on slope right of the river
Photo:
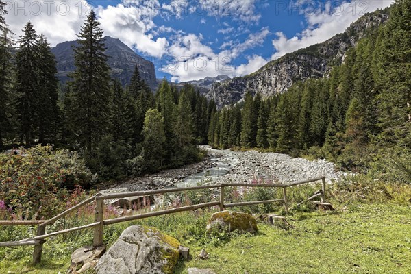
[[[353,171],[368,171],[378,159],[409,159],[410,22],[411,1],[397,1],[388,22],[370,29],[329,77],[268,99],[247,93],[242,104],[215,112],[210,145],[311,154]],[[403,172],[411,179],[409,168]]]

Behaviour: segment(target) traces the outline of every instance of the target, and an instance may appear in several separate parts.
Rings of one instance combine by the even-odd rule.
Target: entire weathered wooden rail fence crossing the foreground
[[[321,196],[321,202],[325,202],[325,177],[316,177],[312,179],[306,179],[300,182],[295,182],[292,184],[218,184],[218,185],[210,185],[210,186],[194,186],[189,188],[167,188],[167,189],[159,189],[159,190],[148,190],[148,191],[138,191],[138,192],[125,192],[125,193],[113,193],[108,195],[102,195],[101,193],[92,196],[85,201],[69,208],[68,210],[54,216],[53,218],[45,221],[0,221],[0,225],[38,225],[36,236],[32,238],[27,238],[24,240],[14,241],[14,242],[0,242],[0,247],[16,247],[16,246],[23,246],[23,245],[34,245],[34,252],[33,252],[33,263],[36,264],[40,262],[41,255],[42,255],[42,247],[45,242],[45,238],[49,238],[51,236],[57,236],[60,234],[66,234],[69,232],[75,232],[77,230],[87,229],[94,227],[94,238],[93,238],[93,246],[99,247],[103,245],[103,227],[104,225],[112,225],[114,223],[121,223],[125,221],[133,221],[138,219],[145,219],[153,216],[161,216],[166,214],[172,214],[176,212],[184,212],[184,211],[191,211],[197,210],[199,208],[210,208],[212,206],[219,206],[220,210],[224,210],[225,208],[232,208],[235,206],[251,206],[256,204],[265,204],[265,203],[274,203],[274,202],[284,202],[284,211],[286,214],[288,213],[288,199],[287,199],[287,188],[292,186],[299,186],[301,184],[308,184],[311,182],[322,181],[321,185],[321,192],[317,193],[316,195],[309,197],[308,199],[301,201],[304,203],[306,201],[310,201],[315,197]],[[224,203],[225,200],[225,188],[231,186],[243,186],[243,187],[250,187],[250,188],[282,188],[283,190],[283,199],[273,199],[273,200],[266,200],[266,201],[246,201],[246,202],[238,202],[238,203]],[[137,215],[132,216],[123,216],[114,219],[104,220],[104,200],[105,199],[117,199],[117,198],[127,198],[127,197],[147,197],[150,195],[157,195],[157,194],[166,194],[172,192],[182,192],[188,190],[201,190],[201,189],[210,189],[210,188],[220,188],[220,197],[219,201],[212,201],[208,203],[199,203],[192,206],[182,206],[177,208],[171,208],[167,210],[158,210],[154,212],[147,212],[147,213],[140,213]],[[95,203],[95,223],[90,223],[88,225],[82,225],[79,227],[73,227],[69,229],[60,230],[57,232],[51,232],[46,234],[46,227],[47,225],[52,225],[58,219],[62,219],[67,214],[82,208],[88,203],[94,202]],[[299,203],[299,204],[301,204]],[[298,205],[299,205],[298,204]]]

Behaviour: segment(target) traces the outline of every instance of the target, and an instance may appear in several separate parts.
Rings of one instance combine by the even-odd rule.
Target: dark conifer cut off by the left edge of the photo
[[[0,151],[3,149],[3,138],[12,137],[15,123],[16,96],[12,92],[12,32],[3,17],[7,14],[5,3],[0,1]]]

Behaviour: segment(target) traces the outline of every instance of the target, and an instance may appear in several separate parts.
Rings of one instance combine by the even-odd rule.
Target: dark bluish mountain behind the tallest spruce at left
[[[105,36],[104,39],[107,48],[105,54],[109,56],[108,65],[112,69],[113,78],[119,78],[123,85],[129,84],[134,66],[137,64],[142,79],[145,79],[151,89],[157,87],[153,62],[142,58],[119,39],[110,36]],[[73,46],[77,47],[78,43],[62,42],[51,49],[57,61],[58,78],[61,82],[66,82],[69,79],[68,73],[75,70]]]

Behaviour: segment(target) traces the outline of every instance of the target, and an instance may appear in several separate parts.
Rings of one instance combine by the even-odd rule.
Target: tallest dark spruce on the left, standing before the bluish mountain
[[[74,49],[76,69],[73,77],[75,125],[80,147],[91,152],[108,133],[110,120],[110,76],[103,31],[95,12],[88,14]]]

